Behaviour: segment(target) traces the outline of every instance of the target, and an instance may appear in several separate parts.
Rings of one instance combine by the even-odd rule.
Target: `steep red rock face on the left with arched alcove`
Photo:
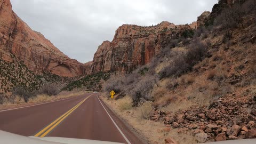
[[[15,55],[33,72],[50,71],[60,76],[85,74],[85,67],[70,59],[41,33],[33,31],[13,11],[10,0],[0,0],[0,59],[12,62]]]

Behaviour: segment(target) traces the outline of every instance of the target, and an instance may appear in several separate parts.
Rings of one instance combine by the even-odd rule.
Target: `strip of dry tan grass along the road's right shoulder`
[[[153,122],[148,119],[143,119],[140,117],[139,108],[132,108],[130,110],[121,111],[118,108],[118,103],[122,102],[131,102],[129,96],[126,96],[122,99],[118,99],[111,103],[106,97],[101,97],[101,99],[108,105],[109,108],[113,109],[113,111],[124,121],[126,121],[130,126],[135,129],[142,138],[148,140],[148,143],[159,143],[164,144],[164,139],[173,138],[178,143],[196,143],[193,135],[189,133],[178,133],[177,129],[171,129],[170,132],[164,132],[165,125],[163,122]]]

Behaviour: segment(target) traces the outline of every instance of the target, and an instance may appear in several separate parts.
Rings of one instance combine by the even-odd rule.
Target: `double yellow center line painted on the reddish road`
[[[92,94],[91,94],[92,95]],[[65,118],[67,118],[74,110],[76,110],[80,105],[82,105],[82,103],[84,101],[86,101],[87,99],[89,99],[91,97],[91,95],[89,95],[87,98],[85,98],[84,100],[82,100],[81,102],[79,102],[75,107],[71,108],[69,111],[67,111],[65,114],[63,114],[62,116],[60,116],[59,118],[57,118],[54,122],[52,122],[51,124],[47,125],[46,127],[44,127],[43,130],[39,131],[37,134],[35,134],[35,137],[45,137],[45,135],[47,135],[49,132],[51,132],[56,126],[58,126]]]

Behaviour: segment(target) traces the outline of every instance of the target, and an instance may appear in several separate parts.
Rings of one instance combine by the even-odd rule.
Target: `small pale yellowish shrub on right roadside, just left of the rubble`
[[[151,102],[145,102],[142,105],[140,105],[138,107],[139,109],[139,116],[142,119],[149,119],[150,118],[150,114],[153,111]]]

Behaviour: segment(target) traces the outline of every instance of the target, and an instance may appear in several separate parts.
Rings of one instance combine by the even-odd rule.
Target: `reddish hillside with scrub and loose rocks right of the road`
[[[171,131],[179,128],[181,138],[190,133],[193,143],[256,138],[256,13],[251,7],[256,1],[234,2],[220,1],[205,27],[194,31],[193,38],[184,34],[186,43],[162,47],[149,65],[111,76],[103,85],[105,95],[115,90],[116,100],[130,97],[133,108],[122,112],[130,117],[143,103],[152,102],[151,121]],[[169,135],[155,134],[162,139],[152,143]]]

